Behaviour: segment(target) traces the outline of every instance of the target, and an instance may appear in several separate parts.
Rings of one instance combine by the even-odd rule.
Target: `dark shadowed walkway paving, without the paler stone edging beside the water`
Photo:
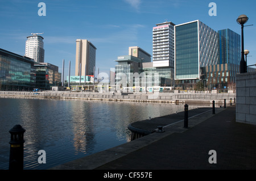
[[[228,107],[97,169],[256,169],[256,126],[237,123],[235,111]],[[209,150],[216,150],[217,163],[209,163]]]

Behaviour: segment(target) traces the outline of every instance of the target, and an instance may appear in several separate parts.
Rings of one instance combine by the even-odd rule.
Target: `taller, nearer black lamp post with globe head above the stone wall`
[[[245,54],[243,51],[243,24],[247,22],[249,18],[242,14],[237,18],[237,23],[241,24],[241,37],[242,37],[242,52],[241,52],[241,61],[240,61],[240,73],[246,73],[246,62],[245,62]]]

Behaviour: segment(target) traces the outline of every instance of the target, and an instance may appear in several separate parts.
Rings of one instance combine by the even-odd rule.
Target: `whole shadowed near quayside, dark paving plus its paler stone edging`
[[[188,117],[190,117],[188,115]],[[256,125],[236,122],[236,106],[216,108],[137,140],[51,170],[256,169]],[[217,163],[209,163],[210,150]]]

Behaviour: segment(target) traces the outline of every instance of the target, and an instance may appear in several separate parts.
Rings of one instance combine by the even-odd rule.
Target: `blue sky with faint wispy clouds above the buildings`
[[[46,16],[39,16],[39,2],[46,3]],[[217,5],[217,16],[209,16],[210,2]],[[245,5],[245,6],[243,6]],[[152,54],[152,27],[167,21],[175,24],[199,19],[215,31],[229,28],[241,35],[236,19],[249,17],[244,28],[248,65],[256,63],[256,1],[203,0],[0,0],[0,48],[25,53],[26,37],[44,32],[45,62],[59,66],[68,61],[75,75],[76,39],[88,39],[97,48],[96,70],[109,73],[118,56],[139,46]]]

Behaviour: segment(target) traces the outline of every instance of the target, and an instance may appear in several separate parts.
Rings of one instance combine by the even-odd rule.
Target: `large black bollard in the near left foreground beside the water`
[[[17,124],[12,129],[10,143],[10,159],[9,170],[23,170],[23,154],[24,154],[24,132],[26,130]]]

